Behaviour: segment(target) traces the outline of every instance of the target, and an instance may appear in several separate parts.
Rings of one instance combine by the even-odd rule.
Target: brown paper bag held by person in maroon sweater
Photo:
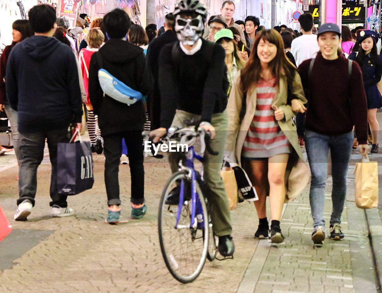
[[[363,157],[356,163],[355,199],[360,209],[372,209],[378,206],[378,164],[370,162],[369,157]]]

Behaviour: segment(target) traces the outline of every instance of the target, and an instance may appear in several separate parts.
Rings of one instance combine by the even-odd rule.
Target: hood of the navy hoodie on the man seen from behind
[[[55,37],[44,36],[32,36],[21,42],[26,53],[34,59],[45,59],[61,44]]]

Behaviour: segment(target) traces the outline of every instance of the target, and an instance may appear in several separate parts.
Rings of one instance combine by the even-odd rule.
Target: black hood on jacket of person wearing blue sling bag
[[[99,52],[111,63],[128,63],[143,53],[143,49],[128,41],[109,39]]]

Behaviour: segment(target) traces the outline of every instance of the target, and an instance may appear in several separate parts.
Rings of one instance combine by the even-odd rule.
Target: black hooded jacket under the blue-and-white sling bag
[[[98,80],[97,55],[105,70],[143,96],[152,89],[152,76],[143,50],[120,39],[109,39],[92,55],[89,66],[89,98],[98,115],[103,135],[129,130],[144,130],[146,115],[142,100],[127,105],[105,95]]]

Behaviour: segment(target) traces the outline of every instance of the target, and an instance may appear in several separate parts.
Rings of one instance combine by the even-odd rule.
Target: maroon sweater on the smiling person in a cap
[[[308,96],[306,129],[325,135],[350,132],[355,126],[359,144],[367,143],[367,103],[361,69],[353,62],[348,76],[348,60],[340,56],[326,60],[317,54],[308,82],[311,59],[298,67]]]

